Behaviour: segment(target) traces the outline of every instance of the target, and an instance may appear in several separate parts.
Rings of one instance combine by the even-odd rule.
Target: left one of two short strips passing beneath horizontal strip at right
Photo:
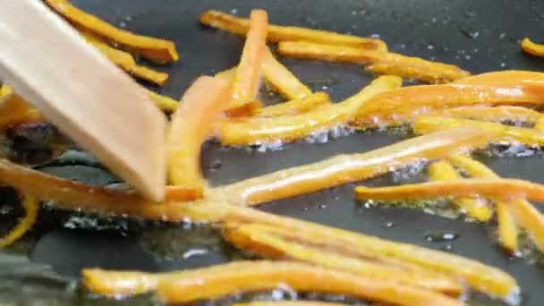
[[[454,166],[446,161],[438,161],[429,166],[430,181],[448,182],[461,179],[463,179],[463,176],[458,174]],[[489,208],[485,201],[478,198],[459,198],[452,200],[452,203],[480,222],[488,222],[493,216],[493,210]]]

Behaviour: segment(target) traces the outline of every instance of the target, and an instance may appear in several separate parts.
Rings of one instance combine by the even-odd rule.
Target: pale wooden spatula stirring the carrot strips
[[[165,115],[41,1],[0,1],[0,80],[144,196],[164,198]]]

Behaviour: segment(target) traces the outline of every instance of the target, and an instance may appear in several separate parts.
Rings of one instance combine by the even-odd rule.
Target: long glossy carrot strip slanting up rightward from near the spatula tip
[[[418,158],[446,157],[487,143],[485,132],[472,129],[438,132],[362,154],[330,157],[318,163],[261,175],[215,188],[210,193],[234,204],[256,205],[361,181],[394,171]]]

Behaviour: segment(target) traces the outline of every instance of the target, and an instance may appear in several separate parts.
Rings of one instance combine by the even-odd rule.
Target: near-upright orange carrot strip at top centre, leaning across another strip
[[[251,11],[250,30],[242,50],[240,64],[233,80],[233,98],[229,108],[238,108],[257,97],[266,55],[268,14],[262,10]]]

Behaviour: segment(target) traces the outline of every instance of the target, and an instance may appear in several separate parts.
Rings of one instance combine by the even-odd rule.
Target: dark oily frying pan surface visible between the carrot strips
[[[544,32],[544,2],[537,0],[78,0],[74,4],[121,27],[175,40],[181,61],[157,68],[169,72],[171,77],[169,84],[158,90],[173,98],[179,98],[200,74],[226,69],[239,59],[242,38],[199,25],[200,13],[212,8],[247,16],[251,8],[260,7],[268,11],[274,23],[379,36],[394,52],[457,64],[474,73],[505,69],[544,71],[544,61],[523,55],[518,45],[525,36],[544,40],[539,36]],[[312,89],[327,90],[336,101],[357,92],[372,78],[353,64],[290,59],[282,62]],[[404,138],[406,135],[394,132],[358,132],[327,141],[301,140],[280,149],[225,149],[208,143],[202,153],[202,168],[209,182],[218,185],[340,153],[376,149]],[[539,152],[510,149],[506,157],[480,154],[480,159],[502,176],[544,183],[544,160]],[[40,169],[85,183],[117,182],[113,175],[81,154]],[[424,178],[412,177],[408,169],[363,184],[378,186],[421,179]],[[14,204],[16,195],[10,188],[0,192],[2,207],[6,208],[0,217],[12,220],[21,214]],[[260,208],[478,259],[512,274],[523,289],[524,305],[544,303],[542,266],[529,259],[509,258],[491,239],[493,233],[487,225],[466,222],[463,217],[432,216],[421,209],[365,208],[353,199],[353,184]],[[10,225],[6,222],[4,226]],[[433,242],[425,238],[429,233],[455,233],[457,238]],[[103,304],[105,300],[75,287],[81,268],[168,271],[205,267],[238,256],[221,242],[215,229],[207,226],[104,219],[42,208],[32,233],[0,253],[0,302]],[[286,292],[271,296],[277,298],[278,294],[290,297]],[[149,302],[143,297],[126,303]]]

